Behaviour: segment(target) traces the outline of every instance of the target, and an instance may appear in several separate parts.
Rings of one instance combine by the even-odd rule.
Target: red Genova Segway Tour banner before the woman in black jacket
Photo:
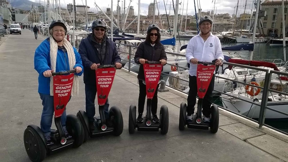
[[[160,79],[162,65],[161,64],[144,64],[144,76],[146,82],[147,99],[152,99]]]

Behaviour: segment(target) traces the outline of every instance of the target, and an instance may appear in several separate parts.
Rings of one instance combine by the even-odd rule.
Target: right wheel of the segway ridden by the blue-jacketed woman
[[[75,115],[67,115],[66,129],[75,140],[73,147],[77,148],[81,146],[84,141],[84,129],[80,120]]]

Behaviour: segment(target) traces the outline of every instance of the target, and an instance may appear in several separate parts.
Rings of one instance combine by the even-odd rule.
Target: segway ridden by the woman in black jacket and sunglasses
[[[136,119],[136,106],[130,105],[129,108],[129,133],[134,134],[135,129],[138,131],[159,131],[161,134],[167,134],[169,124],[169,114],[166,105],[162,105],[160,108],[160,118],[158,123],[152,122],[151,108],[152,99],[155,93],[157,85],[160,83],[160,75],[162,71],[161,62],[158,61],[145,61],[143,64],[145,81],[143,84],[146,85],[147,94],[147,112],[146,116],[143,117],[142,122],[137,122]]]

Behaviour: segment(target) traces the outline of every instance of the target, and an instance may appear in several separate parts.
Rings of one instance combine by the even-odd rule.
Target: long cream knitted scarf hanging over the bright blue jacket
[[[68,54],[68,62],[69,62],[69,69],[72,70],[76,64],[74,49],[67,39],[63,39],[63,45],[67,50]],[[58,44],[50,37],[50,62],[51,62],[51,70],[56,71],[56,60],[57,60],[57,53],[58,53]],[[72,85],[72,92],[71,96],[77,96],[79,93],[79,78],[77,75],[74,75],[73,85]],[[50,77],[50,96],[53,96],[53,77]]]

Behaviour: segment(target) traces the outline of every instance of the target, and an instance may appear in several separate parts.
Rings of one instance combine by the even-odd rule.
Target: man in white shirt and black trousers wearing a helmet
[[[187,120],[192,120],[194,114],[194,106],[196,104],[197,95],[197,63],[198,61],[212,62],[216,60],[215,64],[221,66],[223,64],[223,53],[221,43],[218,37],[213,35],[210,30],[213,20],[210,16],[203,16],[199,20],[199,27],[201,33],[190,39],[186,49],[186,59],[190,63],[189,69],[189,94],[187,98]],[[212,91],[214,89],[214,75],[207,89],[206,95],[203,99],[203,116],[204,121],[210,121]]]

